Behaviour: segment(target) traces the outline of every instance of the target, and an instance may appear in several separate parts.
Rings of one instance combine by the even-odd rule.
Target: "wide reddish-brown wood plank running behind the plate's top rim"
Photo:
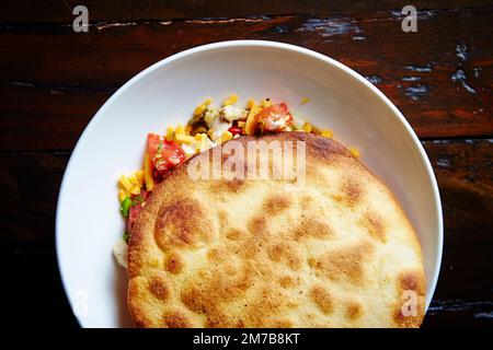
[[[381,13],[172,21],[93,26],[89,34],[69,25],[3,26],[0,150],[69,150],[98,106],[137,72],[234,38],[291,43],[342,61],[381,89],[421,138],[493,135],[493,27],[485,25],[493,10],[424,13],[413,34],[399,21]]]

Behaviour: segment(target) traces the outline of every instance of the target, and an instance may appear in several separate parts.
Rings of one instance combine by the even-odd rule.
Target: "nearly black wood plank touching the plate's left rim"
[[[49,248],[55,244],[58,190],[70,153],[0,153],[0,246]]]

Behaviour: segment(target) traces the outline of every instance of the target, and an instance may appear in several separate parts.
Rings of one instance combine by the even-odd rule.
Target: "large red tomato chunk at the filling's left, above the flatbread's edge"
[[[185,152],[182,148],[160,135],[149,133],[147,144],[152,164],[158,172],[169,171],[185,160]]]

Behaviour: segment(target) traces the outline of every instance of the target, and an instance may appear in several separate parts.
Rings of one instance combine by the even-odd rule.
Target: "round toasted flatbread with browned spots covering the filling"
[[[283,132],[229,142],[246,148],[260,140],[305,144],[305,182],[231,179],[228,172],[219,179],[192,178],[192,162],[213,160],[210,150],[153,189],[128,247],[136,325],[420,326],[421,247],[390,190],[343,145],[320,136]],[[246,168],[246,162],[237,166]]]

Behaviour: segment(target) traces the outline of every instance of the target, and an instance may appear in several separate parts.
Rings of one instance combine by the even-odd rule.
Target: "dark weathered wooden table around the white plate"
[[[89,9],[88,33],[72,31],[80,2]],[[167,56],[252,38],[331,56],[402,110],[432,161],[444,206],[442,273],[424,327],[492,326],[493,3],[409,1],[419,10],[417,33],[404,33],[408,1],[197,2],[1,2],[3,320],[77,326],[56,265],[55,209],[70,152],[98,108]],[[88,203],[80,214],[91,210]]]

